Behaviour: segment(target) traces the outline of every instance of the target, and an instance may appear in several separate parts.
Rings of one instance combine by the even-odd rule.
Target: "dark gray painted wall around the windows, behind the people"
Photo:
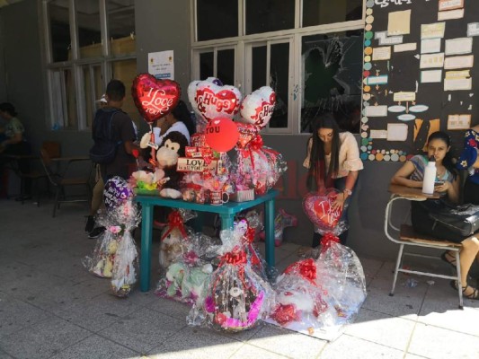
[[[182,99],[191,82],[189,0],[142,0],[136,2],[137,71],[147,71],[149,52],[174,50],[175,80],[182,86]],[[51,131],[46,123],[47,90],[42,66],[39,36],[39,10],[36,0],[25,0],[0,9],[0,101],[12,101],[28,128],[36,151],[44,140],[58,140],[64,154],[87,153],[91,146],[88,131]],[[19,31],[22,23],[22,31]],[[4,81],[5,80],[5,81]],[[140,127],[140,134],[146,125]],[[265,144],[283,153],[289,170],[277,207],[297,215],[297,228],[288,228],[285,239],[309,244],[313,226],[302,209],[306,192],[302,162],[307,136],[264,136]],[[396,247],[383,232],[389,179],[400,165],[365,162],[359,186],[350,206],[350,247],[377,258],[393,258]],[[403,217],[401,217],[403,218]]]

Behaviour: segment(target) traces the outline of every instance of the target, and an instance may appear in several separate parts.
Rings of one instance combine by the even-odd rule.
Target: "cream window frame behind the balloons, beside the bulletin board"
[[[242,92],[243,96],[251,93],[256,89],[251,87],[251,78],[247,74],[251,73],[251,56],[248,58],[248,44],[258,43],[261,41],[280,41],[281,39],[290,39],[289,47],[289,106],[288,106],[288,127],[262,129],[263,134],[268,135],[302,135],[309,136],[308,133],[301,132],[301,104],[303,103],[302,92],[302,58],[301,44],[303,36],[320,35],[323,33],[333,33],[339,31],[360,30],[364,28],[364,18],[366,13],[366,1],[363,0],[362,18],[348,22],[334,22],[322,25],[302,27],[303,2],[296,0],[295,2],[295,27],[294,29],[263,32],[259,34],[245,35],[245,1],[238,0],[238,33],[235,38],[211,39],[207,41],[198,41],[198,29],[196,18],[196,3],[198,0],[190,0],[191,2],[191,81],[199,80],[200,63],[198,51],[204,48],[221,48],[224,46],[236,46],[235,54],[235,86]],[[201,79],[205,80],[205,79]],[[233,83],[227,83],[233,84]],[[296,99],[295,99],[296,96]],[[362,90],[361,90],[362,96]]]

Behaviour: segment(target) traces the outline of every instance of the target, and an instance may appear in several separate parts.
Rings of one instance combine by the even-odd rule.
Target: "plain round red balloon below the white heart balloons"
[[[227,152],[235,147],[239,133],[235,122],[229,118],[215,118],[205,129],[206,143],[217,152]]]

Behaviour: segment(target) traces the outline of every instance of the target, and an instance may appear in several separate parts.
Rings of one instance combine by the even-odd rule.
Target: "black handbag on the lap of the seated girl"
[[[479,206],[466,204],[462,206],[441,206],[429,212],[434,226],[441,224],[464,237],[468,237],[479,230]]]

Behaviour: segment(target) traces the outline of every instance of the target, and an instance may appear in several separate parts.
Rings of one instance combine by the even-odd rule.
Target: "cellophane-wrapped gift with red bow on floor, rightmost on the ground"
[[[275,289],[277,302],[267,321],[326,340],[342,333],[366,299],[359,258],[331,233],[322,242],[319,258],[289,266]]]

